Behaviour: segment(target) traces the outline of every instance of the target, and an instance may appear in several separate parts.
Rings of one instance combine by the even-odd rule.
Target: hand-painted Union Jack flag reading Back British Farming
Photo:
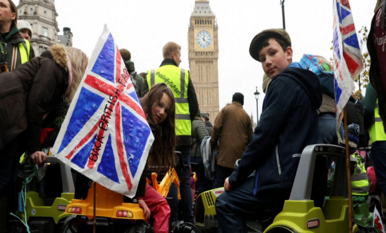
[[[97,183],[134,197],[153,141],[129,72],[105,25],[53,154]]]

